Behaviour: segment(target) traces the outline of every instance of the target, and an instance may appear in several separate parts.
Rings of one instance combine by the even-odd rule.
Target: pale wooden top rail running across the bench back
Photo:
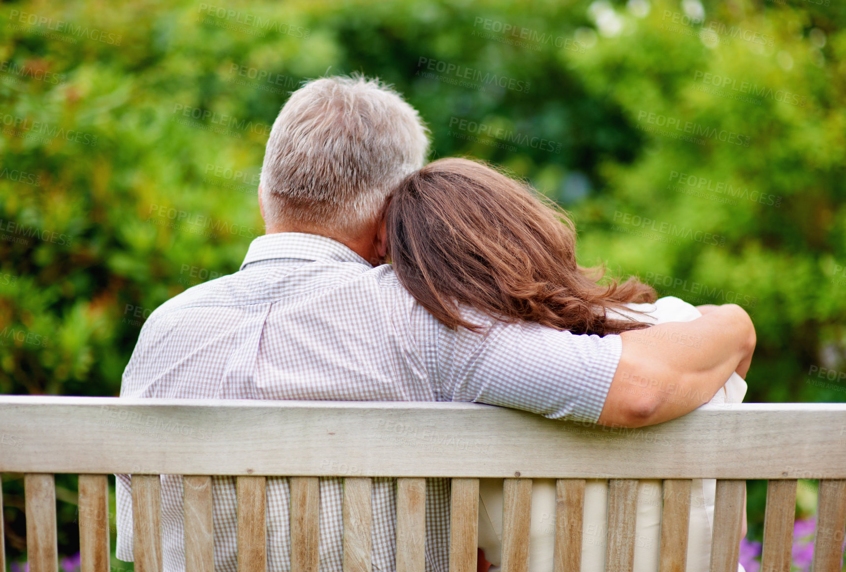
[[[484,404],[0,396],[0,471],[846,478],[846,404],[708,404],[640,429]]]

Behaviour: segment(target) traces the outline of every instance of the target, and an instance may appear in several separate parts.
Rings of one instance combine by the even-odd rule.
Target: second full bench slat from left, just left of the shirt
[[[80,475],[81,572],[109,572],[108,477]]]

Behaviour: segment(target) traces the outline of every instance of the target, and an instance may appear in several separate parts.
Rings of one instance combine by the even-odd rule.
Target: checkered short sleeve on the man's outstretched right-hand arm
[[[441,328],[437,374],[447,399],[596,423],[623,352],[618,335],[480,317],[473,322],[487,322],[485,333]]]

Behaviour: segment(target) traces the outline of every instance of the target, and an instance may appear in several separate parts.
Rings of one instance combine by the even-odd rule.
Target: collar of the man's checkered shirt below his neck
[[[272,260],[275,258],[293,258],[302,261],[332,260],[339,262],[358,262],[371,264],[355,254],[348,246],[338,240],[330,239],[319,234],[305,233],[273,233],[265,234],[254,239],[247,250],[247,256],[241,264],[240,270],[252,262]]]

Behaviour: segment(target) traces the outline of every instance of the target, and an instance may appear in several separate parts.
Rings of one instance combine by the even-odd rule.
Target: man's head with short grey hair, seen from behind
[[[421,168],[428,129],[396,91],[361,75],[312,80],[282,107],[267,140],[268,228],[305,225],[353,237]]]

